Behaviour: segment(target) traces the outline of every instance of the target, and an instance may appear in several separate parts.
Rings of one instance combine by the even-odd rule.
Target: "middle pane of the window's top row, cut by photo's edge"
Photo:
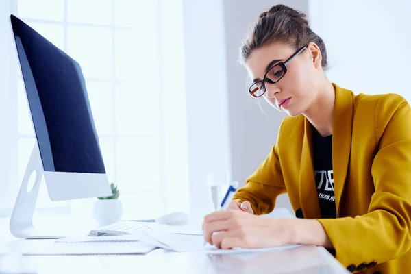
[[[112,0],[67,0],[67,17],[76,23],[109,25]]]

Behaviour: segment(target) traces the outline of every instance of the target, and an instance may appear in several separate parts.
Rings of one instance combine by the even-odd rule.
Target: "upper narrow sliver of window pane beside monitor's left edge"
[[[18,110],[18,133],[20,134],[34,134],[32,114],[29,112],[29,104],[27,103],[27,95],[23,80],[18,80],[17,84],[17,110]],[[32,151],[30,150],[30,153]]]

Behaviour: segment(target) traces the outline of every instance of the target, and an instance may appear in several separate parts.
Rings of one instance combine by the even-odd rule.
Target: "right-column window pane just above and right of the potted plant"
[[[123,191],[160,188],[160,142],[156,138],[117,140],[117,180]]]

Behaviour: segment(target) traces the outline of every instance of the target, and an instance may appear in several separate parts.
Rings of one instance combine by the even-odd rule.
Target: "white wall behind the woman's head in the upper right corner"
[[[329,80],[356,94],[394,92],[411,100],[411,1],[309,1],[325,41]]]

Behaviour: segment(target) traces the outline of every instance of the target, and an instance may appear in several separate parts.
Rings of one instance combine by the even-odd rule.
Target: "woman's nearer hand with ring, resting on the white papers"
[[[277,247],[291,243],[291,221],[240,210],[215,211],[204,218],[203,235],[206,242],[221,249]]]

